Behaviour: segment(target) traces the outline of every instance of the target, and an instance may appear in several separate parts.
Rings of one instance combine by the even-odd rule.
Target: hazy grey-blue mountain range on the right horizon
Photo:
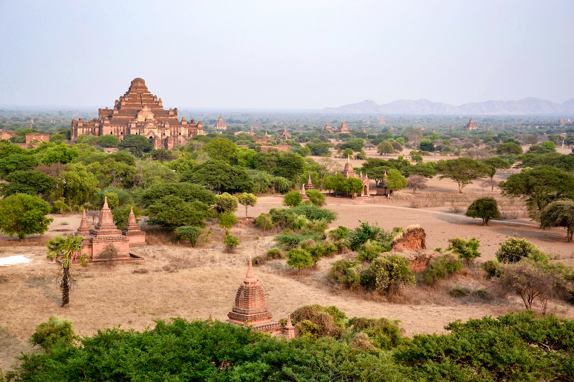
[[[438,115],[527,115],[527,114],[574,114],[574,98],[557,104],[538,98],[525,98],[518,101],[470,102],[460,106],[420,100],[399,100],[379,105],[373,100],[365,100],[337,108],[324,108],[324,114],[438,114]]]

